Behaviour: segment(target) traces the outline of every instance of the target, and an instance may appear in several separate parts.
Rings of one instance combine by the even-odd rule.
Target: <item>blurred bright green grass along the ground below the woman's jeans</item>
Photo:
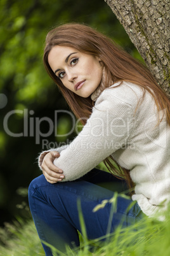
[[[82,223],[84,225],[84,222]],[[134,231],[134,229],[136,231]],[[86,231],[84,231],[84,234],[86,234]],[[27,223],[19,220],[13,225],[6,224],[4,229],[0,229],[0,237],[1,241],[4,243],[4,245],[0,246],[0,255],[2,256],[45,255],[32,220],[29,220]],[[91,245],[93,245],[93,253],[89,252],[89,247]],[[100,239],[94,241],[87,241],[87,239],[85,239],[85,242],[83,242],[81,237],[81,250],[72,252],[68,248],[67,254],[61,253],[60,255],[169,256],[169,211],[167,211],[167,219],[164,222],[159,222],[151,218],[144,218],[142,222],[128,227],[123,231],[121,227],[118,227],[114,236],[108,237],[105,243],[101,243]]]

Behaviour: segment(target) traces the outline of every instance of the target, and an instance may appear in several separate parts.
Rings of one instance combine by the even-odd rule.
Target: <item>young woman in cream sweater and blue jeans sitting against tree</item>
[[[29,204],[42,241],[63,252],[65,244],[79,246],[78,198],[88,238],[105,236],[114,206],[93,211],[114,196],[95,184],[98,174],[112,180],[112,174],[94,169],[103,160],[111,173],[134,186],[131,198],[117,197],[109,232],[143,215],[163,216],[170,200],[170,103],[148,69],[81,24],[48,33],[44,65],[84,127],[69,145],[39,156],[43,174],[30,183]]]

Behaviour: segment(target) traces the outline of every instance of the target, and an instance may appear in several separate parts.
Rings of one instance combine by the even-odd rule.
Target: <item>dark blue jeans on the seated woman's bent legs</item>
[[[120,183],[119,180],[117,181]],[[111,188],[105,188],[110,184]],[[116,184],[112,174],[97,169],[93,169],[82,179],[69,182],[51,184],[46,181],[44,175],[34,179],[29,186],[29,205],[39,238],[62,252],[65,251],[65,244],[71,248],[79,246],[77,230],[81,232],[81,225],[77,210],[78,198],[81,200],[88,239],[105,236],[110,210],[114,205],[107,203],[103,209],[96,212],[93,212],[93,209],[104,199],[114,196],[114,192],[110,189]],[[122,183],[118,187],[120,186]],[[117,197],[117,210],[112,218],[110,233],[114,232],[120,223],[122,227],[126,227],[143,217],[138,203],[134,202],[127,211],[132,202],[131,199],[124,199],[121,195]],[[43,243],[42,246],[46,255],[52,255],[48,246]]]

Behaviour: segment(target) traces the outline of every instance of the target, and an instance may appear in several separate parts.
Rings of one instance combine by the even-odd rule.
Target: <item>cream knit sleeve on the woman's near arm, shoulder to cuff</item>
[[[82,131],[53,162],[63,170],[62,181],[80,178],[126,145],[133,126],[133,108],[105,90]]]

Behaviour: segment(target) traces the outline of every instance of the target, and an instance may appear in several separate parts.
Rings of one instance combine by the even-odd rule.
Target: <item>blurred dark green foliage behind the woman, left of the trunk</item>
[[[0,103],[0,210],[1,225],[20,215],[30,218],[27,204],[18,191],[41,174],[37,167],[37,153],[42,150],[42,139],[36,143],[36,118],[54,119],[55,110],[69,110],[56,85],[50,80],[42,64],[44,40],[47,32],[67,22],[83,22],[107,34],[131,55],[141,59],[121,24],[104,0],[1,0],[0,1],[0,96],[6,96],[5,106]],[[0,101],[2,101],[0,97]],[[28,111],[28,127],[34,134],[10,136],[4,128],[4,118],[10,111],[17,113],[8,119],[8,129],[23,132],[23,110]],[[20,113],[18,112],[20,110]],[[31,119],[32,118],[32,119]],[[30,121],[32,120],[32,121]],[[34,124],[34,125],[33,125]],[[65,115],[58,117],[57,131],[62,134],[71,126]],[[41,132],[49,125],[42,122]],[[65,130],[66,129],[66,130]],[[49,142],[60,143],[68,138],[48,136]],[[44,148],[46,150],[46,148]],[[27,197],[25,200],[27,201]],[[20,205],[20,207],[16,207]]]

